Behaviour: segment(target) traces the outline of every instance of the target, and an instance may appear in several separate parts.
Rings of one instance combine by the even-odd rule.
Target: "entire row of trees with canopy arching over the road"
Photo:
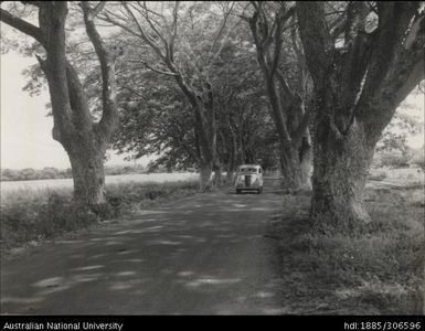
[[[53,137],[70,156],[75,200],[89,207],[105,202],[111,146],[196,168],[201,190],[258,162],[279,167],[296,192],[312,167],[315,224],[368,222],[376,143],[424,79],[416,1],[19,6],[4,4],[1,21],[36,41],[24,47],[41,67],[30,76],[46,79]]]

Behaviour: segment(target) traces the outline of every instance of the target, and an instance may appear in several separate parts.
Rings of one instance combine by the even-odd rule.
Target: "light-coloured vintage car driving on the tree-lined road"
[[[242,164],[237,169],[235,181],[236,194],[242,191],[263,193],[263,169],[258,164]]]

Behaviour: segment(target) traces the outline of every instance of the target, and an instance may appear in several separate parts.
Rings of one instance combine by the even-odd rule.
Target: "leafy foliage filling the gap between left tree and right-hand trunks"
[[[114,13],[113,9],[119,6],[111,3],[103,20],[134,28]],[[247,26],[231,17],[229,20],[232,22],[223,23],[229,6],[182,3],[179,7],[174,62],[183,78],[196,87],[200,97],[205,82],[211,86],[214,114],[209,110],[205,115],[214,116],[216,121],[216,153],[221,163],[230,164],[231,158],[235,159],[233,163],[263,162],[264,159],[272,167],[277,162],[277,140],[265,92],[258,84],[261,74],[255,46]],[[162,19],[168,20],[168,23],[155,22],[163,35],[169,33],[171,8],[170,3],[166,3],[162,11],[156,8],[163,14]],[[202,14],[202,20],[196,17],[199,14]],[[147,30],[152,29],[141,18],[139,23]],[[150,170],[158,167],[196,168],[200,150],[192,105],[172,75],[157,72],[167,72],[167,66],[158,61],[151,49],[140,44],[134,33],[126,28],[115,38],[127,49],[117,63],[120,128],[111,147],[132,153],[134,159],[158,154],[158,159],[149,164]],[[97,72],[92,70],[85,79],[86,87],[92,90],[89,96],[98,95],[98,82]],[[96,104],[95,98],[92,102]],[[236,153],[232,154],[233,149]]]

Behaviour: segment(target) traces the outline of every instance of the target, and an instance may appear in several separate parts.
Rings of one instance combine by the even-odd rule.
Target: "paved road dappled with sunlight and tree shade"
[[[265,193],[200,194],[1,263],[2,314],[281,311]]]

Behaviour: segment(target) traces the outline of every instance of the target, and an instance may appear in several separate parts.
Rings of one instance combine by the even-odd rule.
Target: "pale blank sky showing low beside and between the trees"
[[[46,117],[45,108],[45,104],[49,103],[47,90],[33,97],[22,90],[28,82],[22,72],[35,61],[34,57],[23,57],[12,51],[0,55],[0,167],[2,169],[71,167],[66,152],[51,135],[53,118]],[[417,117],[423,122],[424,95],[411,94],[405,103],[408,107],[400,110]],[[424,132],[411,137],[408,143],[413,148],[421,148],[424,145]],[[125,161],[125,156],[118,156],[114,151],[109,151],[108,154],[110,159],[106,166],[134,164]],[[146,166],[150,159],[152,158],[142,158],[137,163]]]

